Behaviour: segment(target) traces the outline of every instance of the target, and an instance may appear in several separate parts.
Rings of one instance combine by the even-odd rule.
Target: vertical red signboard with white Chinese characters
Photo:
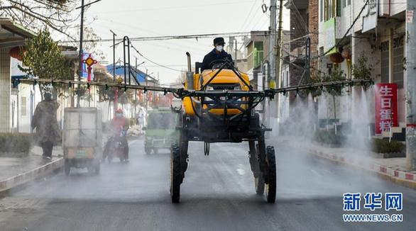
[[[376,84],[376,134],[398,127],[398,84]]]

